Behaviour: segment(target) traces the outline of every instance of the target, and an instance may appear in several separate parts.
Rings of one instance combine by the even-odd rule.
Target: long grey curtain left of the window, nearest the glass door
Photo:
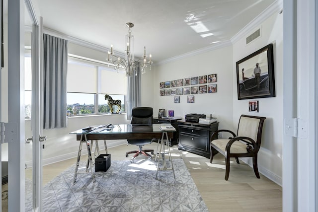
[[[44,42],[44,128],[64,128],[66,121],[66,76],[68,41],[43,34]]]

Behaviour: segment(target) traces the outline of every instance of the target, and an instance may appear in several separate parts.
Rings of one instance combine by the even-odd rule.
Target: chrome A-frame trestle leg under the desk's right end
[[[164,136],[166,139],[164,139]],[[175,179],[175,174],[174,174],[174,169],[173,169],[173,163],[172,163],[172,157],[171,157],[171,151],[169,147],[169,140],[168,140],[168,134],[167,132],[162,132],[162,138],[161,138],[161,143],[160,143],[160,151],[159,151],[159,157],[158,157],[158,163],[157,163],[157,173],[156,173],[156,178],[158,179],[158,171],[168,171],[172,170],[173,171],[173,177]],[[164,151],[164,146],[166,144],[167,147],[167,153],[169,160],[171,162],[171,168],[167,168],[166,161],[165,161],[165,151]],[[159,168],[159,161],[160,161],[160,156],[162,157],[162,168]]]

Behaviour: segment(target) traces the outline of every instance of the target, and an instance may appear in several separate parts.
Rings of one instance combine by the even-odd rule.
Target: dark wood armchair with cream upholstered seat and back
[[[230,130],[218,130],[211,138],[218,138],[215,134],[224,132],[224,135],[231,134],[229,139],[216,139],[211,141],[211,158],[221,153],[225,156],[226,173],[225,180],[229,179],[230,158],[234,157],[239,163],[239,157],[252,157],[253,169],[257,178],[260,178],[257,168],[257,153],[261,144],[262,129],[265,117],[241,115],[239,118],[238,133]]]

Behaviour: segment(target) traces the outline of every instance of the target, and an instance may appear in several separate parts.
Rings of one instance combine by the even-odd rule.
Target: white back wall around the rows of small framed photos
[[[174,116],[182,118],[188,113],[204,113],[207,117],[213,114],[220,122],[219,129],[228,126],[233,129],[232,60],[232,46],[227,46],[157,66],[154,78],[155,113],[158,115],[162,108],[166,111],[165,115],[168,110],[174,110]],[[187,103],[187,95],[180,96],[180,103],[173,103],[173,96],[159,94],[160,82],[213,73],[217,74],[217,92],[194,94],[194,103]]]

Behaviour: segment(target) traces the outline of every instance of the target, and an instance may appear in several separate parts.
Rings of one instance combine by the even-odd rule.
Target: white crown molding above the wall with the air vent
[[[230,40],[232,43],[236,43],[239,39],[246,36],[247,33],[261,25],[268,17],[274,13],[279,13],[283,8],[283,0],[276,0],[271,5],[269,5],[264,11],[262,11],[258,16],[251,20],[246,26],[244,26],[235,36]]]

